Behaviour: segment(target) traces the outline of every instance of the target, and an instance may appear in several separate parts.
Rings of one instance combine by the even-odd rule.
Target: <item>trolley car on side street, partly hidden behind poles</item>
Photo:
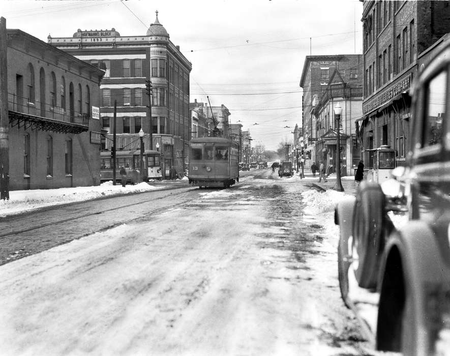
[[[142,156],[144,168],[142,180],[148,182],[149,180],[160,180],[161,173],[161,153],[153,150],[145,150]],[[127,171],[127,183],[140,183],[140,151],[116,151],[115,153],[115,179],[121,180],[119,171],[124,167]],[[105,151],[100,153],[100,181],[112,181],[112,158],[111,152]]]

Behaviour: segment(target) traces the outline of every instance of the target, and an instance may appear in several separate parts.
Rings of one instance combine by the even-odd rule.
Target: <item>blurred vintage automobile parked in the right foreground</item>
[[[374,296],[379,350],[450,352],[449,74],[447,45],[415,79],[408,165],[336,207],[341,296],[360,317]]]

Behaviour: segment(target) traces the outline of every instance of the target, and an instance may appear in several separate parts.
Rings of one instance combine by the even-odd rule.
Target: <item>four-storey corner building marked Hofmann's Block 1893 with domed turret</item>
[[[108,132],[104,150],[161,147],[163,172],[184,170],[190,139],[189,77],[192,64],[158,20],[145,35],[121,36],[114,28],[81,31],[72,37],[48,36],[48,43],[105,71],[101,82],[101,123]],[[150,100],[151,98],[151,100]],[[114,107],[116,120],[114,123]],[[152,135],[152,137],[151,137]]]

